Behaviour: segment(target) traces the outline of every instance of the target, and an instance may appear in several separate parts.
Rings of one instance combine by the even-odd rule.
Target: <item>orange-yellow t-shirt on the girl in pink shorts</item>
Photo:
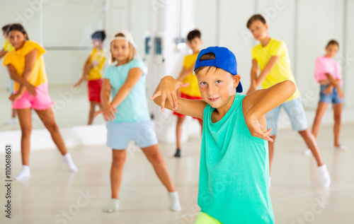
[[[23,76],[23,71],[25,70],[25,56],[33,49],[38,50],[38,56],[35,60],[32,73],[30,73],[29,82],[33,86],[40,86],[42,83],[47,83],[47,73],[45,73],[45,64],[42,57],[42,54],[45,53],[45,49],[38,43],[27,40],[20,49],[8,52],[4,57],[3,64],[4,66],[11,64],[16,69],[18,76]],[[18,90],[19,86],[19,83],[14,82],[13,90]]]

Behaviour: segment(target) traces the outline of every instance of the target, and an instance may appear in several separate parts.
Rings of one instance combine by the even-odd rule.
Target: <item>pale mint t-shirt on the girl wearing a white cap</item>
[[[114,98],[120,87],[127,80],[130,69],[133,68],[142,69],[142,77],[130,90],[127,98],[116,107],[117,113],[113,122],[137,122],[150,119],[149,110],[147,109],[147,88],[145,86],[147,67],[141,60],[133,59],[129,63],[120,66],[111,65],[105,69],[103,78],[110,80],[110,86],[112,86],[111,96]]]

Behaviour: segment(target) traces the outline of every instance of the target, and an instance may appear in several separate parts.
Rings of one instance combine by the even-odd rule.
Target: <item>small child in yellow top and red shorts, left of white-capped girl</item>
[[[89,58],[86,59],[80,80],[74,85],[74,87],[78,87],[83,81],[87,80],[90,101],[89,122],[87,124],[92,124],[93,122],[96,105],[100,108],[102,107],[101,88],[103,83],[103,66],[105,64],[105,52],[102,48],[102,43],[105,40],[105,31],[96,31],[91,35],[91,38],[93,43],[92,52]]]

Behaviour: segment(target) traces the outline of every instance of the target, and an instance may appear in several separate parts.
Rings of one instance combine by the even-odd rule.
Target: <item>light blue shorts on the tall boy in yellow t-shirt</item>
[[[272,135],[277,134],[278,117],[281,107],[284,107],[285,112],[287,112],[287,116],[290,118],[292,129],[294,131],[304,131],[309,127],[304,107],[302,107],[301,98],[298,97],[295,100],[283,102],[280,106],[275,107],[273,110],[270,110],[270,112],[265,114],[267,126],[268,129],[272,129]]]

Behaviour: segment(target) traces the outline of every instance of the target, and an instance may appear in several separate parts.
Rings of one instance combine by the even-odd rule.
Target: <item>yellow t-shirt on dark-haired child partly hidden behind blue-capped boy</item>
[[[190,66],[194,66],[195,61],[197,61],[197,57],[198,53],[185,56],[183,67],[185,69],[190,69]],[[183,83],[189,83],[189,86],[181,88],[181,93],[200,98],[198,79],[197,76],[193,75],[193,72],[183,79]]]

